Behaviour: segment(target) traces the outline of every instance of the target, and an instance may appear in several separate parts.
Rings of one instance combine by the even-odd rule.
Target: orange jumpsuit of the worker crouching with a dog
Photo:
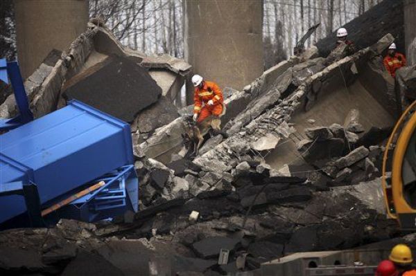
[[[208,105],[209,100],[213,100],[214,104]],[[215,82],[204,81],[202,89],[196,87],[193,101],[193,113],[199,113],[197,122],[202,122],[210,115],[220,116],[223,112],[223,92]]]

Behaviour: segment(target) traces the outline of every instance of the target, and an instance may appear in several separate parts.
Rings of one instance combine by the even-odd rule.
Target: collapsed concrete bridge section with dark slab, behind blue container
[[[53,50],[24,85],[35,118],[64,107],[67,100],[81,100],[130,122],[135,138],[142,141],[179,117],[173,102],[180,105],[190,70],[182,59],[125,48],[101,21],[92,19],[67,51]],[[16,114],[10,95],[0,106],[0,116]]]

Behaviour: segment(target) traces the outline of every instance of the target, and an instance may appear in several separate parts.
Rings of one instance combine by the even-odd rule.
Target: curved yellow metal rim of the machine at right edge
[[[384,156],[383,156],[383,167],[382,167],[382,186],[384,190],[384,199],[385,199],[385,206],[387,208],[388,216],[392,219],[397,219],[397,214],[400,213],[414,213],[416,210],[410,208],[406,200],[403,196],[403,183],[401,178],[401,169],[403,165],[404,156],[406,154],[406,149],[408,148],[408,142],[412,137],[413,132],[416,128],[416,113],[410,117],[410,120],[406,123],[406,126],[401,131],[399,135],[399,139],[396,143],[395,152],[393,154],[392,160],[392,181],[391,181],[391,190],[392,190],[392,199],[389,198],[389,187],[387,185],[387,181],[385,179],[385,168],[388,163],[388,151],[390,149],[390,145],[392,144],[392,140],[395,137],[399,127],[404,123],[406,116],[410,113],[410,111],[416,106],[416,101],[410,104],[410,106],[401,114],[401,117],[397,121],[395,128],[388,139],[387,145],[385,146]],[[390,210],[390,202],[393,202],[395,207],[395,212]],[[400,222],[399,222],[400,223]]]

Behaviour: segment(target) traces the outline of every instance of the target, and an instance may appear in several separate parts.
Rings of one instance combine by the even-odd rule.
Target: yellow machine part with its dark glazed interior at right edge
[[[383,156],[383,192],[388,216],[404,230],[416,229],[416,101],[401,115],[388,139]],[[397,138],[397,134],[399,137]],[[392,160],[388,152],[394,140]],[[386,167],[391,162],[391,178]]]

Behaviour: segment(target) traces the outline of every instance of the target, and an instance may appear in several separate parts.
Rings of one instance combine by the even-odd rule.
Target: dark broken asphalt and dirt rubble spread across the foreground
[[[119,275],[157,275],[153,266],[173,274],[225,275],[257,269],[289,252],[352,248],[397,234],[395,221],[383,214],[379,179],[318,192],[305,178],[271,177],[254,167],[243,174],[231,184],[221,181],[228,190],[160,200],[115,223],[62,220],[50,230],[1,232],[0,250],[8,255],[0,254],[0,268],[75,275],[91,259]],[[197,219],[189,219],[191,212],[198,212]],[[218,265],[221,249],[229,250],[225,265]],[[9,253],[15,258],[4,259]]]

